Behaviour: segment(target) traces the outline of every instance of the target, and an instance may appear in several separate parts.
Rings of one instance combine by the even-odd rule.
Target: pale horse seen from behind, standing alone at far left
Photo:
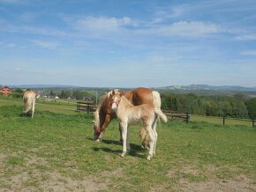
[[[31,118],[34,117],[34,105],[35,105],[35,99],[39,98],[40,94],[39,92],[34,92],[34,91],[26,91],[23,94],[23,105],[24,109],[22,115],[26,115],[30,110],[32,111]]]

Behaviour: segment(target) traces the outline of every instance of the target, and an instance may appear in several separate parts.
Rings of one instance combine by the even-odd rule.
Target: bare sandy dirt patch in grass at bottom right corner
[[[178,182],[174,188],[177,191],[256,191],[256,184],[253,183],[252,178],[245,174],[237,174],[234,175],[233,178],[227,180],[218,178],[217,175],[215,175],[215,171],[222,168],[223,167],[213,165],[205,166],[202,169],[198,169],[196,166],[183,166],[179,170],[169,170],[167,176],[169,178],[175,178],[177,177],[177,174],[190,174],[193,176],[203,175],[205,178],[207,178],[207,181],[190,181],[185,177],[177,178]]]

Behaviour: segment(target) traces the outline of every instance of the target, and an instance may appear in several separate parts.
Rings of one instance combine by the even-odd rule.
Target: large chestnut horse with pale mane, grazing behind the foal
[[[110,105],[110,94],[111,92],[108,92],[103,98],[102,102],[97,107],[95,113],[94,113],[94,140],[100,142],[102,140],[103,134],[105,129],[108,127],[109,122],[112,121],[112,119],[116,118],[117,115],[115,112],[111,109]],[[160,102],[155,102],[153,100],[153,91],[148,88],[139,87],[136,88],[130,92],[124,92],[124,97],[129,100],[132,105],[139,106],[141,104],[147,104],[149,106],[153,106],[156,108],[161,107],[161,98],[157,100],[160,100]],[[120,128],[119,128],[120,129]],[[120,138],[121,138],[121,132],[120,132]]]

